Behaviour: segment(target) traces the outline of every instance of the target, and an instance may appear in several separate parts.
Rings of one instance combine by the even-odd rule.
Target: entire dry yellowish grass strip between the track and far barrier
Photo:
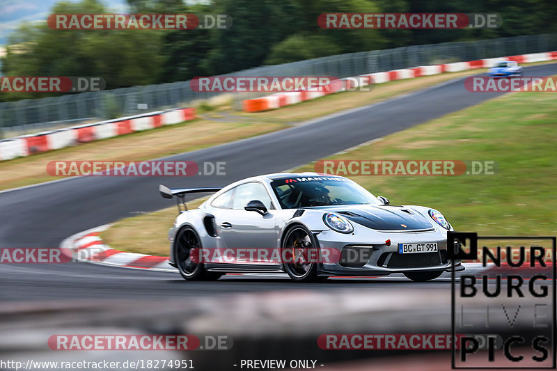
[[[549,62],[531,64],[544,63]],[[210,104],[209,102],[198,102],[198,111],[206,117],[201,120],[169,125],[20,159],[0,161],[0,173],[2,175],[0,177],[0,190],[59,179],[59,177],[47,175],[46,166],[49,161],[139,161],[155,159],[273,132],[283,129],[285,123],[297,123],[329,113],[372,104],[396,95],[427,88],[455,77],[484,71],[473,70],[392,81],[386,84],[378,84],[370,93],[343,92],[274,111],[262,113],[235,112],[235,118],[232,120],[218,120],[227,117],[221,113],[224,111],[230,112],[232,97],[216,97]],[[152,145],[152,143],[157,143],[157,145]]]

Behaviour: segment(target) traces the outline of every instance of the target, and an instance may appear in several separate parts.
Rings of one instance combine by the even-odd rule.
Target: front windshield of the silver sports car
[[[271,187],[283,209],[330,205],[382,205],[370,192],[343,177],[292,177]]]

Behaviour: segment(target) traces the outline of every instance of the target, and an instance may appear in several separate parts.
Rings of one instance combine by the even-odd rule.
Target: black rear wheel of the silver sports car
[[[201,239],[191,227],[182,228],[176,235],[174,245],[174,262],[180,276],[186,281],[216,281],[222,274],[205,271],[201,256]]]

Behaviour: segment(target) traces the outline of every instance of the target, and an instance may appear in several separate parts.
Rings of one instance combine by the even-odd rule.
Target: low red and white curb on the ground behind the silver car
[[[131,269],[178,272],[178,269],[169,264],[168,257],[126,253],[104,244],[100,233],[110,227],[111,224],[106,224],[72,235],[62,242],[61,250],[71,253],[73,260],[80,262]]]

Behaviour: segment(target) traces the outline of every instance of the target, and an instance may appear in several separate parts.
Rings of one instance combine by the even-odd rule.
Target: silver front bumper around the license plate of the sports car
[[[339,257],[336,260],[320,262],[320,274],[384,276],[393,273],[449,271],[451,269],[451,262],[447,254],[446,232],[434,229],[424,232],[373,231],[359,234],[361,236],[350,243],[346,241],[347,235],[340,235],[331,230],[315,235],[322,250],[334,251],[334,255]],[[389,239],[391,244],[387,245],[386,240]],[[439,251],[398,253],[399,243],[416,242],[437,242]],[[464,269],[460,261],[455,262],[455,269],[457,271]]]

